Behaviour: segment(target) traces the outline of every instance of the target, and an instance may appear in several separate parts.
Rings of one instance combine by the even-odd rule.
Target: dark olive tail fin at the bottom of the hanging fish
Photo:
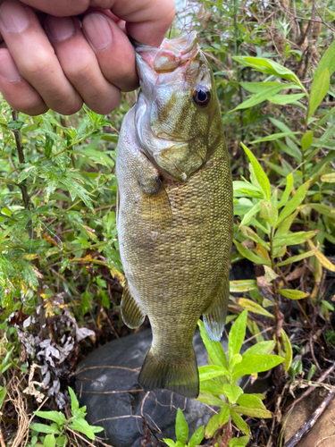
[[[167,361],[156,357],[150,349],[138,376],[138,384],[147,390],[162,388],[181,396],[197,399],[199,376],[197,358],[193,350],[181,361]]]

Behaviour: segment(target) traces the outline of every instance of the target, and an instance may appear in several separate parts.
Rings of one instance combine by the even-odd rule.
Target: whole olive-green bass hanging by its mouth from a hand
[[[228,307],[230,159],[197,32],[135,50],[140,91],[116,155],[121,316],[152,327],[138,384],[197,398],[197,320],[220,341]]]

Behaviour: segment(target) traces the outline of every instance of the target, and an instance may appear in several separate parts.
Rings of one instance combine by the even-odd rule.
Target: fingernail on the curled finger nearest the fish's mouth
[[[83,21],[83,30],[96,50],[102,50],[112,43],[112,30],[102,14],[87,15]]]

